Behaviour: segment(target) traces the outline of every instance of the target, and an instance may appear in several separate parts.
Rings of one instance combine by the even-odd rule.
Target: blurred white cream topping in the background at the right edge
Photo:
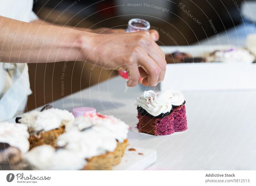
[[[214,53],[213,61],[216,62],[248,62],[252,63],[255,57],[245,49],[221,50]]]

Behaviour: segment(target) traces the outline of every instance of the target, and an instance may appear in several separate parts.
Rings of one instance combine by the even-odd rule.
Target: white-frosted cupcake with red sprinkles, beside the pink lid
[[[87,164],[83,170],[111,170],[124,155],[128,129],[113,116],[84,114],[76,118],[73,128],[59,136],[57,145],[84,158]]]

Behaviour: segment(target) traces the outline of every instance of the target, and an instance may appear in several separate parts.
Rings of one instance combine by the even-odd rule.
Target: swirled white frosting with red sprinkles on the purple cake
[[[170,112],[172,105],[180,106],[184,103],[185,97],[179,90],[166,90],[154,92],[153,90],[144,91],[141,97],[137,98],[135,105],[142,107],[152,116]]]

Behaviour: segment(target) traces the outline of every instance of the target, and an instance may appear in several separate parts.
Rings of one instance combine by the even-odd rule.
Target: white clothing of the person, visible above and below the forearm
[[[11,19],[24,22],[38,19],[32,8],[33,0],[0,0],[0,16]],[[6,39],[8,39],[8,34],[6,33]],[[4,52],[4,44],[5,40],[0,43],[0,55]],[[31,90],[29,88],[27,64],[0,62],[0,121],[3,121],[21,113],[26,106],[27,97],[31,94]],[[19,83],[24,84],[24,88],[21,90],[18,89]],[[25,95],[26,98],[20,100]]]

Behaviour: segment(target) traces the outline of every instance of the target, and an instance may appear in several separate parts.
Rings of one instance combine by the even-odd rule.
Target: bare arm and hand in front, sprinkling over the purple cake
[[[128,86],[154,86],[164,79],[164,52],[148,32],[95,34],[0,16],[1,62],[86,61],[105,69],[126,70]],[[29,60],[28,60],[29,59]]]

